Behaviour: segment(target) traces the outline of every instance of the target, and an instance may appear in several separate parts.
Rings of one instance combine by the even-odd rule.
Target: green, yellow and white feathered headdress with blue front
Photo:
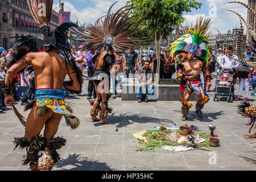
[[[175,56],[179,53],[195,53],[196,57],[201,61],[205,61],[208,65],[210,50],[208,46],[208,38],[210,33],[207,30],[210,26],[210,18],[197,19],[196,25],[187,31],[187,34],[176,39],[170,47],[170,55]]]

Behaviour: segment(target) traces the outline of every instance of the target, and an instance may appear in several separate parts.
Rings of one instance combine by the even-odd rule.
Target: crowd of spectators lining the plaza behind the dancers
[[[7,72],[6,63],[11,57],[11,52],[11,49],[9,51],[4,49],[0,52],[0,79],[5,79]],[[83,73],[88,73],[88,77],[93,77],[95,71],[93,57],[96,56],[96,51],[86,50],[83,45],[79,46],[77,49],[77,47],[73,45],[71,47],[71,52],[73,57],[75,57],[76,65],[81,69],[81,71]],[[255,57],[256,55],[251,51],[251,47],[249,45],[246,46],[246,52],[243,54],[251,56],[243,56],[246,61],[255,61],[255,59],[252,57]],[[110,69],[112,78],[110,83],[113,88],[113,98],[117,97],[118,87],[122,88],[122,84],[125,84],[125,77],[129,78],[132,76],[138,77],[139,80],[137,89],[138,102],[142,102],[143,94],[146,96],[144,101],[148,102],[148,100],[150,100],[150,96],[152,96],[154,92],[154,74],[156,73],[158,61],[160,61],[160,79],[170,79],[173,78],[176,72],[176,65],[183,63],[183,61],[186,60],[186,56],[183,53],[176,55],[176,57],[170,57],[168,49],[162,50],[160,53],[160,60],[157,59],[156,53],[152,49],[150,51],[142,51],[140,56],[134,49],[129,49],[127,52],[124,52],[121,55],[115,53],[115,58],[115,63]],[[209,59],[208,71],[210,75],[215,72],[216,64],[218,68],[217,75],[222,70],[229,69],[230,75],[232,75],[234,78],[238,78],[240,81],[240,88],[236,100],[238,101],[241,99],[242,91],[245,90],[244,100],[246,101],[251,86],[253,90],[255,89],[256,69],[249,68],[236,59],[238,59],[238,57],[234,55],[234,50],[232,47],[224,48],[224,50],[218,49],[217,54],[212,55]],[[34,100],[35,76],[34,72],[29,70],[30,69],[28,68],[20,75],[15,75],[15,77],[18,77],[20,81],[16,84],[14,98],[16,101],[21,100],[21,105],[26,105],[28,102]],[[67,75],[65,81],[68,80],[69,77]],[[204,89],[206,92],[209,92],[210,88],[208,88],[205,83],[206,80],[204,80]],[[66,99],[73,97],[73,95],[69,93],[67,89],[63,89],[65,91]],[[96,91],[92,80],[89,80],[87,89],[88,100],[92,97],[96,98]],[[82,93],[82,90],[80,90],[79,96],[85,96],[85,94]],[[0,113],[2,113],[5,109],[4,95],[2,90],[0,90]]]

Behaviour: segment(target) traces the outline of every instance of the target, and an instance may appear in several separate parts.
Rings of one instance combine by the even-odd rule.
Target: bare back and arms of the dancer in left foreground
[[[80,89],[75,70],[69,65],[66,67],[64,57],[55,51],[27,53],[23,59],[8,69],[5,84],[9,86],[13,82],[14,75],[29,64],[34,67],[36,89],[63,89],[63,82],[67,74],[73,81],[73,85],[65,85],[65,87],[77,91]],[[5,104],[6,106],[13,105],[13,96],[6,97]]]

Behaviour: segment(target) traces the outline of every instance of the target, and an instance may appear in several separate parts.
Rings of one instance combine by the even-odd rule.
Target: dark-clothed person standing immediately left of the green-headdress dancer
[[[170,52],[166,51],[166,56],[164,56],[165,62],[163,63],[163,77],[165,79],[172,78],[172,74],[176,72],[175,61],[170,57]]]

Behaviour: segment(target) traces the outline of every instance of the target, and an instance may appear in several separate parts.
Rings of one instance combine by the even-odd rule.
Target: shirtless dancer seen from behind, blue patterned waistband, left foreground
[[[67,124],[73,129],[79,125],[79,123],[73,125],[72,119],[76,119],[76,117],[72,115],[69,106],[65,105],[63,92],[63,86],[69,90],[78,91],[81,85],[78,78],[80,73],[77,72],[79,69],[76,67],[73,57],[70,56],[70,48],[63,48],[68,41],[64,33],[72,26],[76,25],[73,23],[62,24],[57,28],[57,31],[51,33],[49,32],[49,26],[43,26],[40,30],[44,35],[44,40],[32,36],[20,39],[18,42],[20,43],[19,46],[22,47],[16,47],[6,73],[5,104],[6,106],[13,106],[14,75],[28,65],[32,65],[34,68],[35,101],[30,105],[32,110],[27,117],[24,137],[15,138],[14,141],[15,148],[26,148],[27,158],[23,160],[23,164],[30,163],[31,170],[51,170],[53,164],[60,160],[56,150],[64,146],[66,140],[53,137],[57,133],[63,115]],[[39,42],[43,43],[43,47],[40,46],[42,44]],[[31,46],[31,44],[34,46]],[[40,51],[42,48],[44,48],[44,52],[29,51],[32,49]],[[65,56],[61,56],[60,53]],[[69,75],[72,84],[70,82],[69,84],[63,84],[66,75]],[[42,137],[39,135],[43,127]],[[44,151],[45,155],[38,156],[39,151]]]

